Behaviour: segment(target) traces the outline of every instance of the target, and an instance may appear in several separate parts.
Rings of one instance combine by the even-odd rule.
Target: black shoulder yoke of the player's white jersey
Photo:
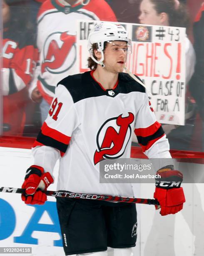
[[[129,92],[145,93],[145,88],[132,79],[129,74],[119,73],[118,79],[119,83],[114,89],[117,94],[127,94]],[[103,90],[102,87],[100,87],[100,85],[92,78],[90,71],[83,74],[75,74],[65,77],[57,84],[57,86],[59,84],[62,84],[67,88],[74,103],[90,97],[107,95],[106,90]]]

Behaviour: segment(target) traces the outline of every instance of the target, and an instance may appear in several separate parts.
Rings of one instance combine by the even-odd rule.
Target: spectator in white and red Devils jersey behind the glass
[[[77,20],[109,20],[116,17],[105,0],[47,0],[38,13],[37,47],[40,65],[30,97],[40,103],[42,123],[47,118],[57,83],[76,74]]]

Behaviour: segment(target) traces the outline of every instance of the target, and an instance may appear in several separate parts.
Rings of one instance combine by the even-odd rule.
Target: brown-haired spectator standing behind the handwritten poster
[[[186,6],[178,0],[142,0],[140,12],[139,21],[142,24],[187,28],[189,23]],[[188,84],[194,73],[196,57],[194,48],[187,36],[185,38],[185,53],[186,84]],[[194,129],[194,119],[192,120],[194,117],[194,106],[189,100],[186,102],[186,112],[185,122],[187,125],[162,125],[169,139],[170,149],[192,149],[190,143]]]

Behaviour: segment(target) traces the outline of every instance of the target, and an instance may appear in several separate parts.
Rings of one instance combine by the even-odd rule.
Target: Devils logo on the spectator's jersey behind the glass
[[[76,61],[76,37],[69,31],[55,32],[47,37],[43,47],[41,73],[59,74],[69,70]]]

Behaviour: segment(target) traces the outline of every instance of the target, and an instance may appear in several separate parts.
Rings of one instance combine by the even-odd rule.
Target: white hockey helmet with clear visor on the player
[[[97,64],[100,64],[102,67],[104,67],[104,42],[109,41],[126,41],[128,51],[130,53],[132,52],[131,40],[128,38],[127,31],[122,25],[108,22],[96,23],[94,28],[90,31],[88,37],[88,50],[92,60]],[[97,44],[97,51],[100,51],[102,54],[102,57],[99,61],[94,57],[92,44]]]

